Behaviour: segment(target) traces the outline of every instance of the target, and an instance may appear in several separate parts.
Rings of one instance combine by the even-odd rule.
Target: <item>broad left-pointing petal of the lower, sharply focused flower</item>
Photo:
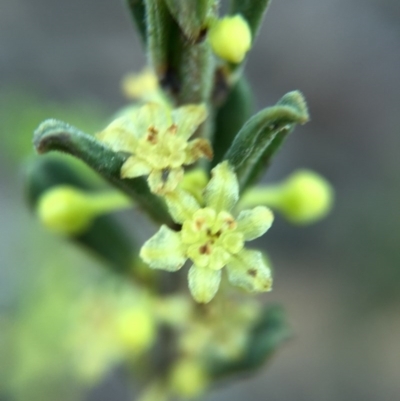
[[[161,226],[140,250],[140,257],[153,269],[179,270],[186,261],[180,234]]]

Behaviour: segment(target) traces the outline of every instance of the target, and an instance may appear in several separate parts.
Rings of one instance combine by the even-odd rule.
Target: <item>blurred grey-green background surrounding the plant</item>
[[[16,399],[50,386],[29,379],[40,364],[19,367],[24,347],[6,345],[37,324],[25,318],[29,329],[9,329],[21,300],[42,305],[41,319],[54,322],[52,283],[71,283],[65,294],[56,291],[67,307],[71,294],[103,279],[95,261],[29,213],[22,171],[34,155],[32,131],[48,117],[101,128],[126,103],[121,77],[145,61],[122,0],[1,1],[0,381],[18,376],[9,377]],[[207,400],[400,399],[400,2],[275,0],[247,74],[258,108],[300,89],[311,113],[265,181],[315,169],[335,186],[336,205],[312,226],[278,218],[259,242],[275,266],[265,299],[284,305],[294,337],[256,376],[216,388]],[[57,343],[57,330],[35,356],[53,372],[58,354],[46,344]],[[59,376],[49,394],[75,399],[68,374]],[[112,372],[85,397],[122,401],[129,391]]]

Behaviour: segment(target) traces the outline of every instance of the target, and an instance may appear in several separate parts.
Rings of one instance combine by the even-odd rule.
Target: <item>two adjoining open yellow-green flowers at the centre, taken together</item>
[[[167,271],[177,271],[190,260],[189,289],[200,303],[214,298],[225,266],[235,286],[252,292],[272,287],[271,270],[262,253],[245,248],[246,241],[269,229],[272,212],[257,206],[235,216],[239,185],[229,163],[224,161],[211,171],[202,193],[184,189],[183,166],[203,156],[212,158],[207,140],[188,141],[206,116],[203,105],[171,109],[148,103],[97,134],[114,151],[129,154],[121,178],[148,175],[150,190],[164,198],[172,219],[181,227],[175,231],[161,226],[141,248],[141,258],[151,268]]]

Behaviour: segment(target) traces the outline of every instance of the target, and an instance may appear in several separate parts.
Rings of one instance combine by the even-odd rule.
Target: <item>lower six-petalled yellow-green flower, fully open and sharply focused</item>
[[[271,271],[259,251],[248,250],[245,241],[263,235],[271,226],[273,215],[264,206],[231,214],[239,196],[235,173],[228,162],[212,170],[204,190],[204,205],[189,193],[177,190],[165,196],[179,232],[166,226],[142,247],[140,256],[155,269],[179,270],[187,259],[189,289],[197,302],[211,301],[218,291],[221,269],[226,266],[229,281],[248,291],[269,291]]]

